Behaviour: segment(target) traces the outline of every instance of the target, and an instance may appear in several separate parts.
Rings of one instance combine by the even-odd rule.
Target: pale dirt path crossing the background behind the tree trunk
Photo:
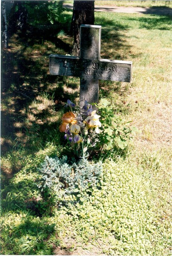
[[[63,4],[63,7],[73,9],[73,4]],[[110,5],[95,5],[95,12],[123,12],[123,13],[142,13],[157,15],[172,15],[170,7],[123,7]]]

